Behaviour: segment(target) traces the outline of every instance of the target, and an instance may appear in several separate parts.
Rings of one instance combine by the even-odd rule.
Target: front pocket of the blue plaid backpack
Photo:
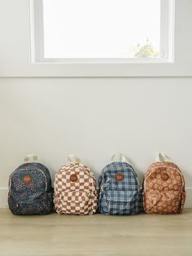
[[[107,191],[103,192],[100,201],[100,211],[103,214],[138,214],[142,201],[137,191]]]

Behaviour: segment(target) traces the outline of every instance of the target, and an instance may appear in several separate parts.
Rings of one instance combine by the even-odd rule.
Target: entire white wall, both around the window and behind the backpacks
[[[67,78],[71,66],[30,63],[28,1],[0,0],[0,207],[9,174],[28,153],[54,177],[69,153],[98,176],[123,152],[142,181],[156,151],[183,170],[192,207],[191,10],[191,0],[176,0],[174,64],[123,65],[118,75],[127,78]],[[114,65],[75,67],[79,76],[116,76]]]

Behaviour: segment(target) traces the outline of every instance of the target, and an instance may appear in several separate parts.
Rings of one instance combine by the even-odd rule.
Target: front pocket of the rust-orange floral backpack
[[[181,192],[158,192],[151,190],[146,192],[147,214],[179,214],[181,212]]]

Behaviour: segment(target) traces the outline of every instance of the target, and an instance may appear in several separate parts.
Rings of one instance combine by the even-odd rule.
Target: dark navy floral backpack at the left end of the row
[[[28,162],[30,157],[33,162]],[[50,172],[37,156],[28,155],[24,161],[9,178],[9,209],[17,215],[50,214],[54,206]]]

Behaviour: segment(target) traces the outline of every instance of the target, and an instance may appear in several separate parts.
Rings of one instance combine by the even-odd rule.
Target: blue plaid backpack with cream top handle
[[[119,161],[115,161],[115,157]],[[98,210],[102,214],[121,215],[142,212],[142,191],[137,173],[127,157],[116,154],[105,166],[98,178]]]

